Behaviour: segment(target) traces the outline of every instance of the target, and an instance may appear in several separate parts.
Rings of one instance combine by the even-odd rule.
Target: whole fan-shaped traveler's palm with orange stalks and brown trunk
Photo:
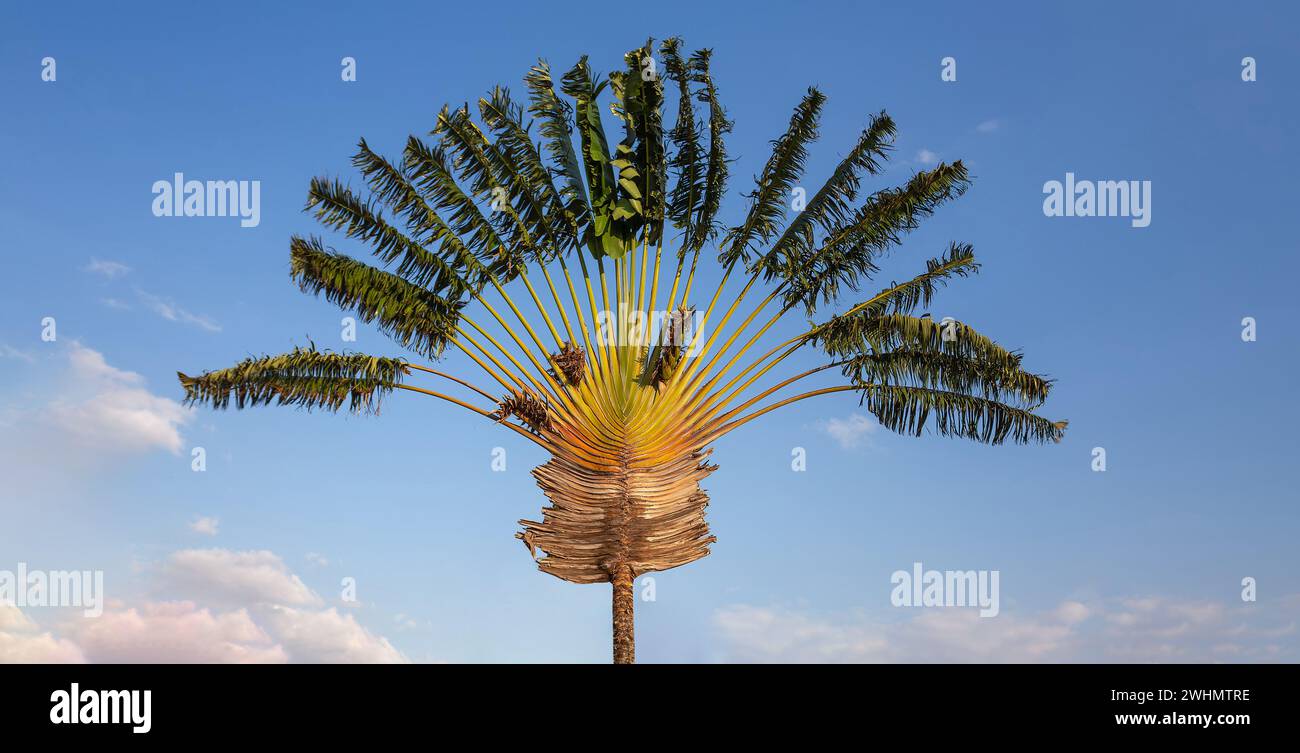
[[[918,313],[937,287],[976,271],[970,246],[953,243],[915,277],[858,294],[905,234],[966,190],[959,161],[859,203],[862,178],[880,173],[892,148],[894,124],[881,112],[809,195],[803,165],[826,101],[810,88],[772,142],[740,224],[722,228],[732,122],[710,51],[686,55],[670,39],[658,52],[646,43],[606,78],[584,57],[558,85],[538,62],[525,104],[498,87],[478,100],[477,121],[468,105],[443,108],[432,139],[411,137],[399,160],[361,140],[352,163],[365,191],[312,181],[308,208],[369,244],[378,264],[295,237],[299,286],[421,356],[459,350],[494,386],[315,346],[179,375],[190,403],[217,408],[368,411],[406,390],[536,442],[550,454],[533,471],[550,506],[516,536],[543,572],[612,584],[616,662],[634,655],[633,580],[708,554],[710,445],[749,421],[854,391],[901,433],[928,427],[996,445],[1058,441],[1065,429],[1035,414],[1050,382],[1024,371],[1018,352]],[[671,126],[666,109],[676,111]],[[620,140],[606,118],[621,121]],[[706,254],[716,254],[722,281],[701,297]],[[746,299],[753,310],[740,319]],[[788,339],[764,337],[786,316],[810,324]],[[805,349],[824,363],[768,376]],[[828,369],[842,380],[798,391]],[[455,386],[439,391],[437,380]]]

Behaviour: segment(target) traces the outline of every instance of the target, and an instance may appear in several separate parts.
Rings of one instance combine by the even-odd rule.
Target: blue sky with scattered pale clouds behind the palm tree
[[[174,373],[308,338],[402,354],[364,325],[356,343],[339,342],[343,313],[290,284],[289,237],[318,231],[302,212],[311,177],[356,182],[359,138],[396,153],[443,103],[495,83],[521,90],[538,56],[566,69],[588,53],[607,72],[646,36],[680,35],[714,48],[736,121],[728,224],[809,85],[829,98],[814,187],[880,109],[900,135],[885,181],[868,189],[935,159],[966,161],[974,187],[909,237],[881,282],[950,241],[972,243],[982,273],[942,291],[935,316],[1023,349],[1031,371],[1057,380],[1045,411],[1070,429],[1045,447],[900,437],[854,419],[848,395],[750,424],[718,443],[705,484],[712,554],[658,574],[655,601],[638,603],[638,658],[1296,661],[1300,512],[1282,472],[1300,420],[1294,9],[359,14],[26,5],[0,31],[0,570],[103,570],[117,600],[105,619],[121,620],[95,628],[29,609],[10,619],[8,645],[151,657],[151,641],[183,624],[220,650],[173,646],[178,657],[607,661],[608,589],[537,572],[514,538],[543,502],[528,473],[545,460],[536,447],[413,395],[377,417],[173,412]],[[56,82],[40,78],[46,56]],[[344,56],[356,82],[339,78]],[[1254,82],[1242,81],[1245,56]],[[944,57],[956,82],[940,79]],[[260,181],[260,224],[155,217],[151,186],[176,172]],[[1150,226],[1044,216],[1044,182],[1067,172],[1150,181]],[[708,269],[701,289],[715,282]],[[40,338],[46,316],[56,342]],[[1242,339],[1247,316],[1254,342]],[[122,415],[105,406],[122,399],[130,436],[109,430]],[[195,446],[203,473],[190,469]],[[490,469],[495,446],[504,473]],[[802,473],[789,464],[796,446],[807,450]],[[1093,447],[1106,450],[1105,472],[1092,471]],[[200,518],[217,520],[214,535],[192,529]],[[916,561],[1000,571],[1002,614],[892,607],[890,574]],[[228,588],[240,568],[254,574],[244,590]],[[1248,576],[1256,602],[1240,598]],[[343,577],[356,605],[338,603]],[[289,584],[278,602],[254,588],[272,581]],[[177,602],[192,614],[160,606]],[[239,615],[264,635],[240,633]],[[308,623],[358,653],[294,644]]]

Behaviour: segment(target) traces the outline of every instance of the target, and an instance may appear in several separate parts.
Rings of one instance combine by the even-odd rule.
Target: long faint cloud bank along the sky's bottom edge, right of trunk
[[[1288,600],[1066,601],[996,618],[941,607],[887,616],[734,605],[715,611],[714,627],[725,658],[740,662],[1275,662],[1300,654],[1300,609]]]

